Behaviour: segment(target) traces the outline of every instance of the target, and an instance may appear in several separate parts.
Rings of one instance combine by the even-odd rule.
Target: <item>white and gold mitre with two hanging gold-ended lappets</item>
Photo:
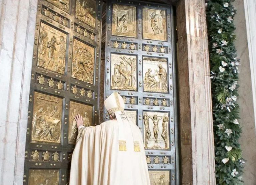
[[[120,94],[117,92],[113,92],[105,101],[104,101],[105,109],[107,110],[108,114],[115,113],[117,124],[118,124],[118,135],[119,135],[119,150],[126,151],[126,138],[124,137],[124,128],[123,128],[123,119],[126,119],[133,124],[129,118],[124,113],[124,100]],[[132,128],[131,128],[131,132]],[[131,133],[131,134],[132,134]],[[132,134],[133,135],[133,134]],[[133,138],[134,142],[134,151],[139,152],[139,142]]]

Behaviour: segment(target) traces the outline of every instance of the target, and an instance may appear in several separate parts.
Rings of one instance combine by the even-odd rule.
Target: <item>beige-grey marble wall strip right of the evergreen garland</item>
[[[243,180],[244,184],[255,184],[256,182],[256,132],[255,132],[255,120],[253,109],[253,91],[252,91],[252,78],[247,30],[245,21],[245,9],[244,0],[236,0],[233,5],[237,9],[237,14],[234,17],[234,23],[236,26],[235,34],[237,40],[235,46],[237,49],[237,58],[240,58],[239,66],[239,82],[238,89],[239,98],[238,103],[240,105],[240,126],[242,128],[242,135],[240,138],[240,144],[243,151],[243,157],[247,162],[245,163]],[[255,12],[254,12],[255,13]],[[255,21],[255,19],[254,19]],[[255,50],[254,50],[255,53]],[[255,80],[255,79],[254,79]]]

